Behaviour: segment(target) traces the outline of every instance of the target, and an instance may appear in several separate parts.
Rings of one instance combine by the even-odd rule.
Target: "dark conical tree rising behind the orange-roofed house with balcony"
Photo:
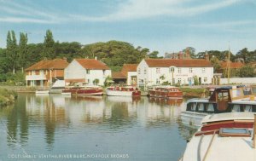
[[[50,30],[46,31],[46,35],[44,36],[44,53],[42,53],[43,57],[54,59],[55,58],[55,40],[53,38],[52,32]]]

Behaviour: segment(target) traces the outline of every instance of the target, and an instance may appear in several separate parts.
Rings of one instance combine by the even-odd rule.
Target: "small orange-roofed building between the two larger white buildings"
[[[121,72],[113,72],[112,78],[115,83],[137,85],[137,64],[124,64]]]

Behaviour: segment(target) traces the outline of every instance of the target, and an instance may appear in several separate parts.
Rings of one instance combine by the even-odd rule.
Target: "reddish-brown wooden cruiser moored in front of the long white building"
[[[148,95],[159,98],[182,98],[183,92],[174,86],[162,86],[148,89]]]

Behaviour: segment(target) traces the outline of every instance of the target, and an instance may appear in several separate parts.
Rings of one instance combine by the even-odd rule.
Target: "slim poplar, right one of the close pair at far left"
[[[26,66],[26,57],[27,57],[27,34],[20,32],[20,42],[19,42],[19,66],[21,67],[21,72],[24,71]]]

